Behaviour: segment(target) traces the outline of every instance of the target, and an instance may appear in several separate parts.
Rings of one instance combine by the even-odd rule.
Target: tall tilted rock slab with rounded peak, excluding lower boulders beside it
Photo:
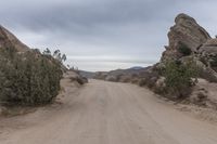
[[[187,14],[179,14],[168,32],[168,39],[169,45],[165,47],[166,51],[163,53],[162,61],[183,56],[180,52],[183,45],[191,52],[196,52],[203,43],[210,39],[210,36],[194,18]]]

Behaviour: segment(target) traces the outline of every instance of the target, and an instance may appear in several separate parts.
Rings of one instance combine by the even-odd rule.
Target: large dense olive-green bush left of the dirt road
[[[52,102],[60,90],[61,62],[38,51],[0,51],[0,103],[41,105]]]

